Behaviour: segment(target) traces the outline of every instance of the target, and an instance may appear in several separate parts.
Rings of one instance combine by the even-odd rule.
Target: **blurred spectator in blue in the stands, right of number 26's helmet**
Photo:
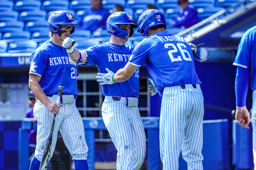
[[[170,23],[171,26],[184,30],[200,21],[196,9],[192,5],[189,5],[188,0],[178,0],[178,4],[181,9],[178,16]]]

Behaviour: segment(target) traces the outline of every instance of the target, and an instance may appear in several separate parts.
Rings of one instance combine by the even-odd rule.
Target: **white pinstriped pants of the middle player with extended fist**
[[[126,98],[105,96],[103,122],[117,150],[116,170],[138,170],[145,159],[146,139],[137,107],[127,107]]]

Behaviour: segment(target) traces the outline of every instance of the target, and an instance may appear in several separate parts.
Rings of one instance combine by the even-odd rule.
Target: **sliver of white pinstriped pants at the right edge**
[[[253,163],[254,170],[256,170],[256,90],[252,92],[251,124]]]

